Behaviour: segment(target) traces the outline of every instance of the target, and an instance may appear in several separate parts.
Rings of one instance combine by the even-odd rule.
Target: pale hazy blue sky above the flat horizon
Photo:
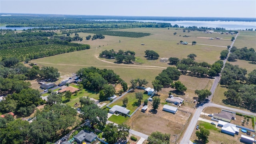
[[[0,13],[256,18],[256,0],[0,0]]]

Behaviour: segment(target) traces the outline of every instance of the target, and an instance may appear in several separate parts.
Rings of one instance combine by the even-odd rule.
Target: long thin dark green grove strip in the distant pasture
[[[130,38],[140,38],[143,36],[149,36],[149,33],[143,32],[121,32],[121,31],[112,31],[112,30],[100,30],[100,31],[88,31],[88,33],[93,34],[105,34],[108,36],[124,36]]]

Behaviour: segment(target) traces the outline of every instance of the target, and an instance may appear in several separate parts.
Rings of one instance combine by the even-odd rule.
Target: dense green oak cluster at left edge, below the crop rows
[[[17,58],[7,58],[1,61],[0,66],[0,93],[5,95],[0,102],[0,112],[14,112],[20,116],[29,116],[36,106],[44,104],[39,90],[30,88],[27,79],[51,79],[60,76],[58,69],[53,67],[24,66]]]

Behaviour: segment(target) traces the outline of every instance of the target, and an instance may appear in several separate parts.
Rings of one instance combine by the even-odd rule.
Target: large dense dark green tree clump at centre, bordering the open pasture
[[[76,74],[82,79],[84,88],[99,92],[100,100],[105,100],[116,93],[113,84],[121,84],[124,91],[128,89],[127,83],[124,82],[119,75],[113,70],[100,70],[95,67],[81,68]]]

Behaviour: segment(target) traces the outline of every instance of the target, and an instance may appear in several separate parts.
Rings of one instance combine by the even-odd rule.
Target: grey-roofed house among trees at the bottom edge
[[[96,140],[97,137],[97,134],[94,134],[93,132],[88,133],[85,130],[81,130],[80,132],[78,132],[78,134],[74,136],[74,139],[76,140],[76,142],[82,143],[84,140],[86,142],[92,142]]]

